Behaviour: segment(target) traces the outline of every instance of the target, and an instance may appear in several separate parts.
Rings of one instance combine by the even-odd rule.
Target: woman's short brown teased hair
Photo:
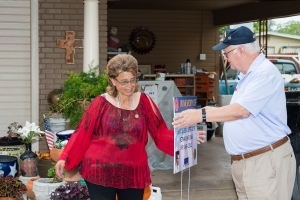
[[[131,72],[133,76],[137,77],[138,62],[132,55],[118,54],[110,59],[107,63],[107,75],[108,78],[115,79],[122,72]],[[137,92],[139,85],[135,85],[134,92]],[[118,91],[116,87],[108,80],[108,86],[106,92],[112,97],[116,97]]]

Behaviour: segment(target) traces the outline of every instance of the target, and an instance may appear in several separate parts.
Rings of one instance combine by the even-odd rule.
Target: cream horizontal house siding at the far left
[[[30,0],[0,1],[0,137],[31,116]]]

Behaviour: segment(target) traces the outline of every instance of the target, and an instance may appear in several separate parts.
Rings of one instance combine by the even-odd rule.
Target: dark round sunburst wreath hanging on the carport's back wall
[[[155,42],[154,33],[146,27],[136,27],[129,36],[129,45],[138,54],[149,53],[154,48]]]

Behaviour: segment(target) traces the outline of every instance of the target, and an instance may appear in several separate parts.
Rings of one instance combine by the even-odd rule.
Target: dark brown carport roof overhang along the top
[[[215,26],[300,15],[299,1],[270,0],[108,0],[108,9],[211,11]]]

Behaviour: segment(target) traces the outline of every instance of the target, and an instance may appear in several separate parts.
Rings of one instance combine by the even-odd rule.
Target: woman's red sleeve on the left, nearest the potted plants
[[[87,107],[80,123],[65,146],[60,160],[65,160],[65,168],[72,170],[79,165],[88,149],[94,130],[98,130],[103,97],[95,98]]]

